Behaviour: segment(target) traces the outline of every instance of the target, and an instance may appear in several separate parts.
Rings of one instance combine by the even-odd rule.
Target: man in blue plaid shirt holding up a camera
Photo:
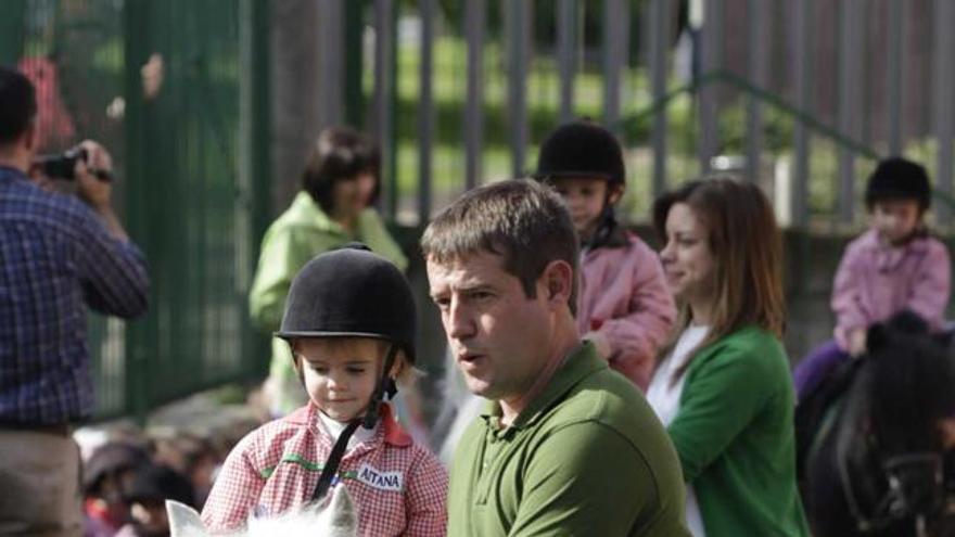
[[[33,85],[0,67],[0,534],[73,536],[82,510],[71,429],[93,409],[87,307],[139,316],[149,277],[111,205],[102,146],[55,159],[75,196],[30,177],[58,169],[36,161],[36,116]]]

